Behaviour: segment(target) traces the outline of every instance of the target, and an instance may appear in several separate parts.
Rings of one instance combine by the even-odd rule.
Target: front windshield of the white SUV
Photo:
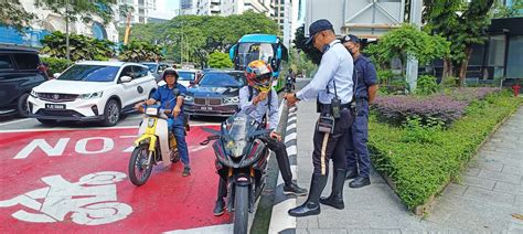
[[[57,79],[78,82],[113,82],[118,73],[119,66],[104,65],[73,65]]]

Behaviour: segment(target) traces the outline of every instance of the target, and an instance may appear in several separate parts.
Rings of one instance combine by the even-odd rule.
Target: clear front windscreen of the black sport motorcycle
[[[227,155],[242,157],[247,150],[249,132],[257,129],[257,123],[250,116],[238,113],[222,125],[222,140]]]

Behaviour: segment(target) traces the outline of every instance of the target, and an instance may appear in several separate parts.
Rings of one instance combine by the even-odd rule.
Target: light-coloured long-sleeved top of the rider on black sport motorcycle
[[[258,95],[258,91],[256,88],[253,88],[252,98],[254,99],[256,95]],[[273,97],[270,97],[270,104],[268,104],[268,95],[273,95]],[[248,100],[248,86],[242,87],[239,89],[239,108],[242,109],[242,111],[256,119],[256,121],[262,123],[264,115],[269,109],[268,105],[270,105],[269,119],[267,124],[269,126],[269,129],[276,129],[276,127],[278,126],[278,95],[276,94],[276,91],[274,88],[270,88],[270,93],[267,94],[267,98],[259,102],[257,105],[254,105],[253,100]]]

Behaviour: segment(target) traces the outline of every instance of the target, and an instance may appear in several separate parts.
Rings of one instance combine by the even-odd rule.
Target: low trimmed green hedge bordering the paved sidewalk
[[[522,103],[508,91],[473,102],[449,129],[433,131],[430,141],[406,141],[412,131],[378,123],[371,115],[372,162],[392,179],[399,199],[414,210],[457,177],[495,126]]]

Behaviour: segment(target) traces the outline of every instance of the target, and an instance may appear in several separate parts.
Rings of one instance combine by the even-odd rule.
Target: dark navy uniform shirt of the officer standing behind
[[[371,60],[363,54],[356,57],[354,66],[357,71],[356,98],[369,100],[369,87],[377,84],[376,68]],[[356,77],[354,77],[355,79]]]

